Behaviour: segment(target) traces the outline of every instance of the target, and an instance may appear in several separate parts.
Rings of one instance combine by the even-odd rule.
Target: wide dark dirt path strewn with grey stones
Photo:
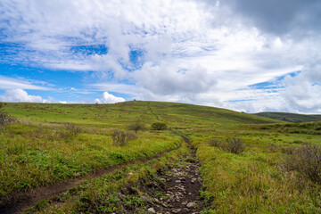
[[[195,151],[178,167],[164,172],[162,188],[144,186],[142,191],[152,198],[148,213],[201,213],[205,205],[200,197],[202,180],[198,172],[200,162],[196,160]]]

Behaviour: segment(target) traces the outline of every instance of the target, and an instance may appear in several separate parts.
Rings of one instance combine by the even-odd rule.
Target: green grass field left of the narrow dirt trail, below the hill
[[[7,193],[27,190],[80,177],[88,172],[144,159],[176,147],[181,138],[169,131],[138,133],[136,140],[115,146],[111,130],[97,128],[78,136],[62,126],[15,123],[0,134],[0,198]]]

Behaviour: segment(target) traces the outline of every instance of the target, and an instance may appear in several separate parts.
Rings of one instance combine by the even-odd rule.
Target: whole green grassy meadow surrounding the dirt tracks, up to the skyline
[[[212,107],[137,101],[92,105],[8,103],[5,110],[18,121],[0,132],[0,198],[177,147],[180,136],[169,130],[151,129],[153,122],[161,121],[188,136],[197,149],[202,162],[201,194],[208,203],[203,213],[321,211],[320,183],[298,170],[284,169],[284,160],[296,149],[321,144],[320,122],[293,124]],[[135,134],[128,125],[137,120],[144,124],[144,130]],[[123,146],[113,144],[111,134],[115,128],[135,137]],[[234,153],[218,146],[226,144],[226,138],[240,139],[243,151]],[[121,210],[116,194],[119,186],[134,184],[168,166],[170,160],[175,164],[184,152],[185,146],[150,165],[124,169],[124,175],[128,175],[126,170],[141,169],[131,181],[119,176],[112,183],[112,175],[101,177],[81,189],[77,200],[65,199],[59,208],[44,205],[40,212],[84,212],[84,206],[93,204],[102,213],[108,213],[103,210],[108,204]],[[102,201],[107,194],[114,201]],[[140,206],[139,199],[132,200],[136,207]]]

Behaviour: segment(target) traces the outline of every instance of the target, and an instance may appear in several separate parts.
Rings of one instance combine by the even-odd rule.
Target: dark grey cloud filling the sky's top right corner
[[[204,0],[213,10],[227,7],[229,12],[247,24],[279,36],[307,36],[321,30],[318,24],[321,2],[318,0]],[[233,20],[235,21],[235,19]],[[295,34],[295,35],[294,35]]]

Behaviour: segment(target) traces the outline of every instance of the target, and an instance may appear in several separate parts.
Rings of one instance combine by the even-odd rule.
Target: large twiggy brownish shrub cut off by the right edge
[[[281,169],[298,171],[313,182],[321,183],[321,147],[305,144],[300,148],[293,148],[281,161]]]

